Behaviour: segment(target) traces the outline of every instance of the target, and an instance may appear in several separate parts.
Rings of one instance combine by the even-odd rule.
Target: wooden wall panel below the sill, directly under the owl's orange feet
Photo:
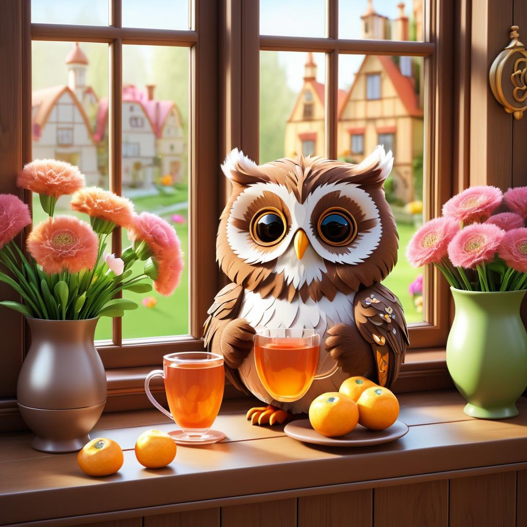
[[[296,527],[296,499],[232,505],[221,509],[221,527]]]

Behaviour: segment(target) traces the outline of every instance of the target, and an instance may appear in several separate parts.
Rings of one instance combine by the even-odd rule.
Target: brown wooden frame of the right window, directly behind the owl
[[[260,35],[259,2],[223,0],[220,88],[222,88],[220,154],[238,147],[256,162],[259,160],[259,51],[324,52],[326,54],[325,151],[337,159],[338,55],[408,55],[425,57],[422,69],[428,80],[425,96],[424,169],[430,174],[424,183],[425,220],[441,216],[442,204],[453,195],[456,181],[452,176],[452,75],[454,9],[450,3],[425,0],[423,42],[348,40],[338,37],[338,0],[326,0],[326,36],[292,37]],[[237,47],[241,47],[240,53]],[[432,88],[433,87],[433,88]],[[222,204],[229,195],[223,182]],[[430,354],[435,368],[438,350],[444,350],[450,327],[451,302],[446,282],[435,269],[425,269],[423,322],[412,324],[412,354],[419,364]],[[440,354],[444,352],[439,352]]]

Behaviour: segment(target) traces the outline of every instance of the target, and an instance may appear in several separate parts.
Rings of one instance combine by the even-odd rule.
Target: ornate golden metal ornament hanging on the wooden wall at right
[[[494,59],[489,80],[497,102],[507,113],[512,113],[515,119],[520,120],[527,110],[527,104],[524,104],[527,99],[527,51],[518,40],[518,29],[518,26],[511,26],[512,40]]]

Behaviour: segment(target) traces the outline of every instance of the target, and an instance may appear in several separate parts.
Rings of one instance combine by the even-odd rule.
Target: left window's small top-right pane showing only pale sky
[[[188,30],[188,0],[122,0],[123,27]]]

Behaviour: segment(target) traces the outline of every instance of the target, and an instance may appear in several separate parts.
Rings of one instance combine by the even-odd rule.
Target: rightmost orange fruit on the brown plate
[[[388,388],[366,388],[358,398],[359,423],[370,430],[385,430],[392,426],[399,415],[397,397]]]

